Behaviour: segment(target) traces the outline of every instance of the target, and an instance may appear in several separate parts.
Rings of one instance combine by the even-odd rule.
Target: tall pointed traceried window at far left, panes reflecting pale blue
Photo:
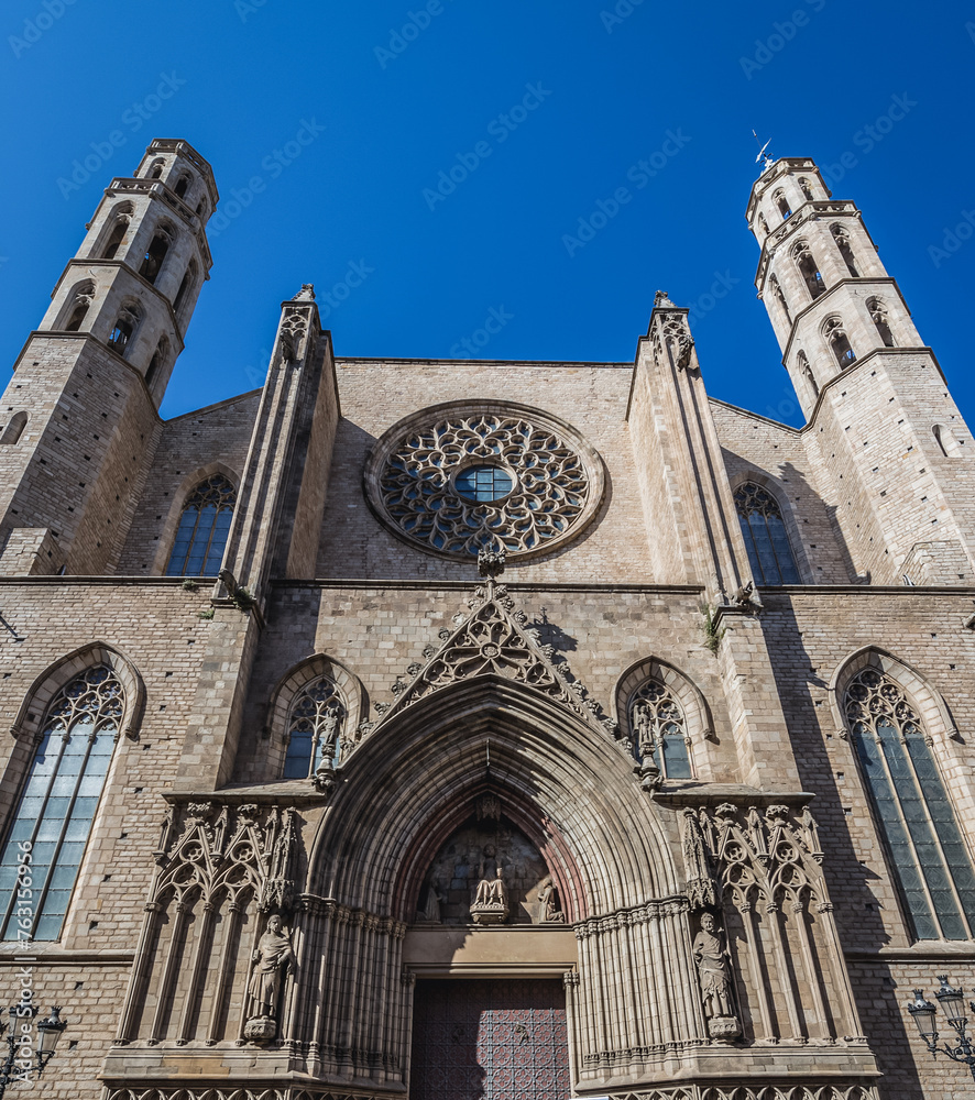
[[[0,858],[0,938],[61,935],[123,707],[122,685],[103,664],[51,704]]]

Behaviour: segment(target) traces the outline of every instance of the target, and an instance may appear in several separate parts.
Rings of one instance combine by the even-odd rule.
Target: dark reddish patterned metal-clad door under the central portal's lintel
[[[561,982],[418,981],[412,1100],[566,1100]]]

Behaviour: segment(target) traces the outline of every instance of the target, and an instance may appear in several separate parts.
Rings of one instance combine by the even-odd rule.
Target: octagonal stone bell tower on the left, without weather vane
[[[113,570],[217,198],[207,162],[165,139],[107,188],[0,406],[0,572]]]

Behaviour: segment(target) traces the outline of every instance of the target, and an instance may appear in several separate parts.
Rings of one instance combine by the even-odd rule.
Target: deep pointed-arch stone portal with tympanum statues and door
[[[496,921],[478,912],[492,861]],[[632,757],[529,686],[452,684],[368,737],[307,891],[328,901],[295,997],[326,1003],[295,1037],[330,1076],[402,1057],[414,1100],[562,1100],[614,1052],[702,1036],[695,1000],[651,980],[695,976],[672,842]]]

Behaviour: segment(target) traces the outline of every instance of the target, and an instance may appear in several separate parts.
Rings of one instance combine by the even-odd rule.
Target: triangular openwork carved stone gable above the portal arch
[[[526,626],[527,616],[514,609],[505,585],[489,581],[475,590],[468,605],[471,614],[452,634],[440,631],[443,645],[428,662],[418,671],[410,667],[413,679],[394,685],[394,691],[398,688],[396,702],[384,711],[370,733],[448,684],[495,675],[544,692],[594,729],[615,736],[615,723],[600,717],[599,704],[572,679],[568,666],[555,662],[554,648],[541,645],[538,631]]]

